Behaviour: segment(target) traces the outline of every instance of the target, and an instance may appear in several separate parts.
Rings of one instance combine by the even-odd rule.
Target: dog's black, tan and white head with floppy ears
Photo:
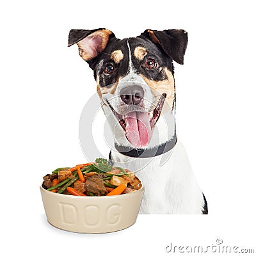
[[[97,92],[110,115],[118,143],[147,147],[164,106],[175,106],[173,60],[183,64],[188,43],[184,30],[147,29],[118,39],[108,29],[72,29],[68,46],[93,69]],[[118,125],[113,125],[118,121]],[[125,143],[125,141],[127,143]]]

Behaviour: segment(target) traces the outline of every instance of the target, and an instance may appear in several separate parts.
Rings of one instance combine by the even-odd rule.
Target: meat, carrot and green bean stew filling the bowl
[[[111,196],[132,193],[141,188],[134,172],[113,167],[108,160],[63,167],[43,177],[42,187],[54,193],[74,196]]]

